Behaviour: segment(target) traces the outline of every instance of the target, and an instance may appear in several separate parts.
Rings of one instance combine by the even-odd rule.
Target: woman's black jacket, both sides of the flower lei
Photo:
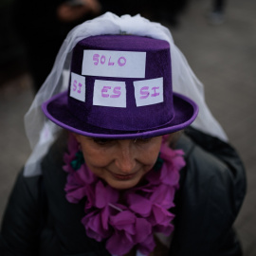
[[[106,256],[81,224],[84,200],[65,199],[65,139],[42,162],[43,175],[18,176],[3,220],[0,255]],[[234,149],[218,138],[187,129],[176,148],[185,152],[180,189],[172,209],[174,237],[170,256],[239,256],[232,224],[246,192],[243,164]]]

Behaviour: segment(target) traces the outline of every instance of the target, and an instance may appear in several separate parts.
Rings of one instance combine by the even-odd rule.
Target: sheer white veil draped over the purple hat
[[[32,153],[27,159],[24,175],[41,174],[40,160],[46,155],[49,146],[62,129],[46,119],[41,110],[42,103],[68,88],[68,70],[73,47],[85,37],[101,34],[134,34],[168,41],[171,48],[174,91],[188,96],[199,106],[198,117],[192,126],[211,136],[228,139],[222,127],[210,113],[204,99],[203,84],[195,77],[187,60],[174,45],[170,30],[140,15],[119,17],[106,12],[98,18],[74,27],[68,33],[46,82],[32,102],[25,116],[25,128]]]

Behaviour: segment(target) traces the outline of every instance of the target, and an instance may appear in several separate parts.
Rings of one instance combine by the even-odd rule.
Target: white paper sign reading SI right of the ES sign
[[[163,78],[134,82],[137,106],[163,102]]]

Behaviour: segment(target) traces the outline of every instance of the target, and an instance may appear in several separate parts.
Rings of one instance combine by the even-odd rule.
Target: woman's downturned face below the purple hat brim
[[[155,165],[162,137],[105,139],[75,134],[88,168],[111,187],[124,190],[137,185]]]

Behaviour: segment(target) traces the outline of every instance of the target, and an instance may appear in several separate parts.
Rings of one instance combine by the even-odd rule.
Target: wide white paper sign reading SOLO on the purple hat
[[[82,75],[145,78],[146,52],[84,50]]]

